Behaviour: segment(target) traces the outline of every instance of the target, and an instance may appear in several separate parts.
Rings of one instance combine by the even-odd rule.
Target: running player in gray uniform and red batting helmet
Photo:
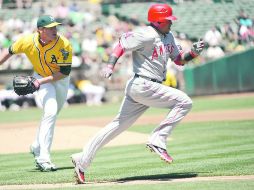
[[[171,59],[177,65],[184,65],[198,56],[204,47],[200,40],[189,52],[182,52],[170,32],[172,21],[176,19],[170,6],[154,4],[148,11],[149,26],[120,37],[102,74],[109,78],[118,58],[124,52],[132,51],[134,76],[126,84],[125,97],[115,119],[88,142],[83,152],[71,156],[77,183],[85,182],[84,172],[99,148],[128,129],[150,106],[171,111],[151,133],[147,147],[165,162],[173,162],[166,150],[167,137],[190,111],[192,100],[184,92],[161,84],[166,76],[166,64]]]

